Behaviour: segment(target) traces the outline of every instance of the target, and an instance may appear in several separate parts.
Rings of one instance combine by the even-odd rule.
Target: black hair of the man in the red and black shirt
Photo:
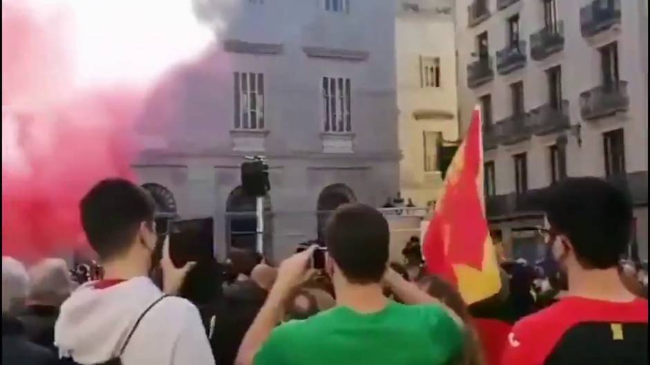
[[[553,232],[573,244],[586,269],[615,268],[629,244],[629,193],[596,177],[574,177],[548,188],[540,201]]]

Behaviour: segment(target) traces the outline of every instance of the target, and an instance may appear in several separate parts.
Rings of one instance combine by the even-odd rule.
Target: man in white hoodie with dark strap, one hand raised
[[[123,365],[214,365],[196,307],[165,296],[176,293],[193,263],[176,268],[166,239],[164,293],[147,276],[158,238],[152,197],[131,181],[106,179],[80,210],[104,279],[83,284],[62,305],[55,325],[59,355],[79,364],[119,358]]]

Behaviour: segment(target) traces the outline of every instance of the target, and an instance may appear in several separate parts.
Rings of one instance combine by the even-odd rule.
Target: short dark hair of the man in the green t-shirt
[[[351,284],[381,281],[389,257],[388,222],[375,208],[344,204],[325,228],[325,244]]]

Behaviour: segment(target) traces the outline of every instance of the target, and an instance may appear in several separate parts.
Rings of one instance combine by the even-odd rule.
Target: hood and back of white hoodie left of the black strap
[[[136,277],[105,288],[86,283],[61,306],[55,344],[75,362],[95,364],[118,355],[131,328],[163,293],[148,277]]]

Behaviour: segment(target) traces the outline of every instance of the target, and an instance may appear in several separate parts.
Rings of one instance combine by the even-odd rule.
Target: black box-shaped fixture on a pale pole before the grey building
[[[248,161],[241,164],[241,187],[246,195],[255,197],[255,213],[257,215],[257,229],[255,234],[257,253],[263,255],[264,247],[264,197],[271,190],[268,181],[268,165],[266,157],[245,157]]]

